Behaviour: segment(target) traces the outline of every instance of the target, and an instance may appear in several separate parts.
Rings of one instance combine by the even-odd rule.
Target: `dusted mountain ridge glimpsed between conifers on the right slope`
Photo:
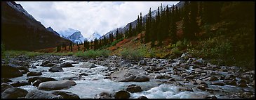
[[[172,8],[173,5],[168,5],[169,8]],[[175,6],[177,6],[177,8],[182,8],[184,6],[184,1],[180,1],[179,3],[177,3]],[[166,8],[166,6],[163,6],[163,9]],[[151,11],[151,16],[153,18],[156,18],[156,13],[157,13],[157,10],[152,10]],[[148,15],[148,13],[147,13]],[[146,19],[147,19],[147,15],[144,15],[142,17],[142,22],[146,22]],[[135,28],[136,25],[137,25],[137,19],[135,19],[135,21],[133,22],[130,22],[132,24],[132,28]],[[126,28],[127,30],[129,29],[129,25],[130,23],[126,24],[126,26],[124,27],[121,27],[121,28],[118,28],[119,29],[119,32],[121,31],[122,33],[125,33],[126,32]],[[115,36],[116,35],[116,28],[112,31],[109,31],[108,33],[105,34],[106,38],[109,38],[109,34],[110,33],[113,33],[113,35]],[[102,37],[100,37],[100,39],[102,39],[104,37],[104,35],[102,35]]]

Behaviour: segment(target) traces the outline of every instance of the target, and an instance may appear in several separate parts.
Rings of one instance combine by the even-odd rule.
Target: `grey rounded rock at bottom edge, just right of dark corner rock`
[[[56,96],[55,94],[35,89],[27,93],[25,99],[63,99],[63,97],[60,95]]]

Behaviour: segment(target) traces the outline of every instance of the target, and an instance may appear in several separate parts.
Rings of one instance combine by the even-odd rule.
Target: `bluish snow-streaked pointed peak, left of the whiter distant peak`
[[[86,40],[86,38],[83,38],[83,35],[81,34],[80,31],[77,31],[75,33],[73,33],[72,35],[69,35],[69,37],[67,37],[69,40],[71,40],[72,42],[75,42],[76,44],[81,44],[84,42],[84,40]]]

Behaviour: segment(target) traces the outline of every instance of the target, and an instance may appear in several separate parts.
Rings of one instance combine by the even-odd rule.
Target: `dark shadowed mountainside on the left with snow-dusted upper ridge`
[[[32,51],[68,45],[71,41],[48,31],[20,4],[2,1],[1,42],[6,49]]]

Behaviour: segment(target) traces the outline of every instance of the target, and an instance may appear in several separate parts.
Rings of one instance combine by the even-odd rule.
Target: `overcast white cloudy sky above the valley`
[[[114,28],[126,26],[163,3],[178,1],[16,1],[46,28],[59,32],[67,28],[81,31],[85,38],[94,32],[104,35]]]

